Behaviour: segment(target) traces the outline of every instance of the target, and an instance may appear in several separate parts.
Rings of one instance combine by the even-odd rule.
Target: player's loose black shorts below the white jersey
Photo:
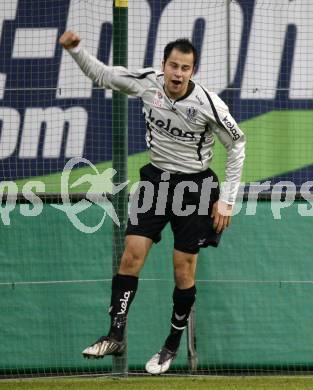
[[[170,222],[174,248],[191,254],[217,247],[221,233],[213,229],[212,205],[219,198],[218,178],[211,170],[169,174],[152,164],[140,169],[140,185],[132,196],[126,235],[157,243]]]

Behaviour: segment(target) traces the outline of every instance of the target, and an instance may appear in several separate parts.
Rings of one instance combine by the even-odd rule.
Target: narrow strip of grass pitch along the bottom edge
[[[311,390],[312,377],[143,377],[1,380],[2,390]]]

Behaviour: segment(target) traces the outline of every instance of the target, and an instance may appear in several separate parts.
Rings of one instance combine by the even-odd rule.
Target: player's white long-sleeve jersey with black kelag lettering
[[[206,170],[213,158],[214,134],[227,150],[226,183],[220,199],[233,204],[245,157],[245,137],[226,104],[202,85],[192,83],[178,100],[164,92],[163,73],[152,68],[131,72],[110,67],[82,47],[70,50],[82,71],[99,86],[138,96],[143,102],[146,141],[153,165],[170,173]]]

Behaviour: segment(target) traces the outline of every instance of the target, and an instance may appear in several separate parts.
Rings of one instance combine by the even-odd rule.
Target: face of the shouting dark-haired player
[[[168,97],[177,100],[185,95],[194,70],[193,61],[193,53],[173,49],[166,62],[162,63],[164,88]]]

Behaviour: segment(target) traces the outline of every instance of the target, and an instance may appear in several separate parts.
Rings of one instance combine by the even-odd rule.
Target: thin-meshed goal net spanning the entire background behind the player
[[[112,92],[58,38],[74,30],[112,65],[112,1],[0,0],[0,11],[0,376],[111,373],[111,358],[81,351],[109,326]],[[199,255],[197,304],[172,373],[312,371],[312,21],[309,0],[128,2],[128,68],[160,69],[166,43],[189,38],[194,80],[219,94],[247,138],[236,215],[220,247]],[[149,161],[141,109],[128,98],[129,188]],[[214,148],[223,181],[226,153]],[[129,314],[133,373],[170,328],[168,227],[162,237]]]

